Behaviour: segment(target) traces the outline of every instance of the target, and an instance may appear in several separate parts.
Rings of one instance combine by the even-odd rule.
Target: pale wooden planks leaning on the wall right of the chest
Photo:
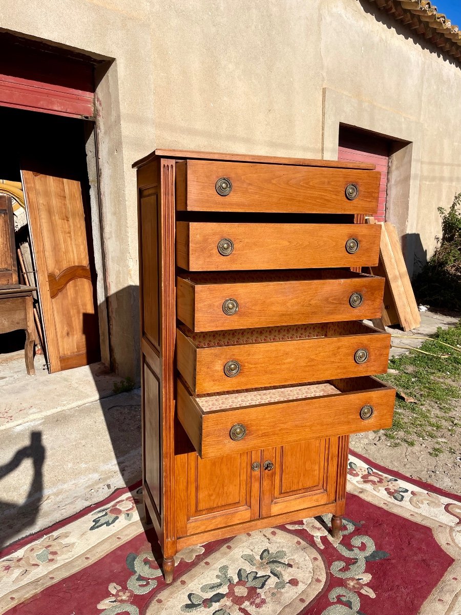
[[[376,224],[372,216],[367,218],[369,224]],[[410,278],[400,247],[400,240],[395,226],[381,222],[381,241],[379,246],[379,264],[371,268],[374,276],[385,278],[382,323],[399,324],[404,331],[416,329],[421,324],[421,317],[411,287]]]

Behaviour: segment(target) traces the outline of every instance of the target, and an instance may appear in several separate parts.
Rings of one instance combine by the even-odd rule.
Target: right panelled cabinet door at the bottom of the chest
[[[265,448],[261,517],[334,502],[338,440],[334,437]],[[272,469],[267,469],[268,461],[274,464]]]

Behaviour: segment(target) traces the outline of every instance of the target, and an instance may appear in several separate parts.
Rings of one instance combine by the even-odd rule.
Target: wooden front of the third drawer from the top
[[[178,278],[178,319],[192,331],[373,319],[383,291],[384,278],[372,276],[201,285]]]

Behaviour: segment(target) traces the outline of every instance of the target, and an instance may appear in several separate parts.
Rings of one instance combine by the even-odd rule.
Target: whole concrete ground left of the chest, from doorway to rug
[[[141,478],[140,389],[103,363],[49,374],[42,355],[0,358],[0,546]]]

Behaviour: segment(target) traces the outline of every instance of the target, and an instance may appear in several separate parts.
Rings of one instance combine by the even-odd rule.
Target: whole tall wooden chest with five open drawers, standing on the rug
[[[155,151],[138,170],[143,487],[176,552],[331,513],[349,434],[392,424],[379,173],[371,165]]]

